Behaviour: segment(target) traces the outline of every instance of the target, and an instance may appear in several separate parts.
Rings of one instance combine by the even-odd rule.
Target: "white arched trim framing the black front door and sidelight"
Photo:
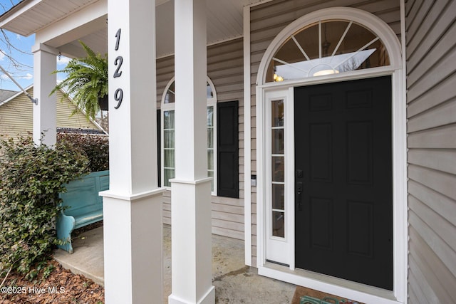
[[[302,80],[284,81],[281,83],[264,83],[266,68],[271,60],[271,56],[281,43],[291,33],[298,31],[300,28],[322,19],[351,19],[363,26],[369,28],[377,34],[390,56],[391,65],[381,68],[371,68],[366,70],[356,70],[353,72],[341,73],[330,76],[319,76],[318,78],[308,78]],[[365,303],[405,303],[407,290],[407,177],[406,177],[406,130],[405,130],[405,100],[403,92],[405,84],[403,81],[402,55],[400,52],[400,43],[397,36],[391,28],[378,19],[373,14],[366,11],[350,8],[331,8],[316,11],[301,17],[284,28],[281,33],[274,39],[269,48],[264,53],[263,59],[259,66],[257,79],[257,267],[259,274],[276,278],[282,281],[288,281],[297,285],[306,285],[310,288],[316,288],[327,293],[336,293],[346,298],[357,295],[357,300]],[[294,269],[294,235],[289,245],[290,261],[289,267],[278,266],[266,263],[266,191],[268,190],[266,176],[266,166],[268,155],[265,154],[267,140],[265,125],[265,100],[266,93],[275,90],[289,90],[290,94],[295,86],[313,85],[316,83],[331,83],[336,81],[346,81],[359,78],[371,78],[382,75],[392,76],[392,121],[393,121],[393,291],[380,290],[369,286],[336,279],[328,276],[310,273]],[[290,107],[287,107],[290,110]],[[290,121],[290,120],[289,120]],[[290,131],[290,130],[289,130]],[[291,137],[292,132],[287,132],[286,137]],[[289,149],[290,150],[290,149]],[[291,157],[293,158],[293,157]],[[289,166],[286,164],[286,166]],[[294,178],[294,177],[293,177]],[[290,184],[290,183],[289,183]],[[294,185],[294,183],[293,183]],[[288,190],[290,191],[290,189]],[[294,191],[294,190],[291,190]],[[294,209],[294,208],[292,208]],[[291,214],[290,214],[291,215]],[[292,223],[287,226],[294,227],[294,216],[291,218]]]

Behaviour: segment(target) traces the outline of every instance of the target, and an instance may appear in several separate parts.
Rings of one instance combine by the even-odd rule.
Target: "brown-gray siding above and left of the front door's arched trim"
[[[251,8],[250,14],[250,47],[251,47],[251,88],[252,88],[252,174],[257,170],[257,140],[256,117],[254,105],[258,102],[255,96],[257,72],[261,58],[271,41],[289,23],[319,9],[333,6],[348,6],[368,11],[388,23],[400,38],[400,1],[398,0],[275,0]],[[252,255],[253,265],[256,266],[257,256],[257,189],[252,187]]]

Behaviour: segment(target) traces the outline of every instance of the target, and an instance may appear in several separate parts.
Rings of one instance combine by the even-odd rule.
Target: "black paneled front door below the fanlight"
[[[391,78],[295,88],[296,268],[393,290]]]

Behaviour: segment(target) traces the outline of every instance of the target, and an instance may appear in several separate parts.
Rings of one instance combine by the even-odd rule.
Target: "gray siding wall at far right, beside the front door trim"
[[[408,303],[456,303],[456,1],[405,1]]]

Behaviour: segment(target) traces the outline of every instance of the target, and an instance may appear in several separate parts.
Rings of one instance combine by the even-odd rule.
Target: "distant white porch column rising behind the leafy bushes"
[[[40,144],[44,134],[43,144],[56,144],[56,100],[55,94],[49,96],[56,86],[57,76],[51,74],[56,70],[58,51],[42,43],[32,48],[33,52],[33,98],[38,103],[33,104],[33,142]]]

